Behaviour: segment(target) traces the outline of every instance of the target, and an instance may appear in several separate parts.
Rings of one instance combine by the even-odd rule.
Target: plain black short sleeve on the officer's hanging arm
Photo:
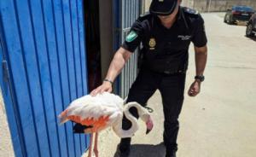
[[[192,42],[196,47],[203,47],[207,44],[205,24],[201,15],[195,20],[195,31],[193,33]]]

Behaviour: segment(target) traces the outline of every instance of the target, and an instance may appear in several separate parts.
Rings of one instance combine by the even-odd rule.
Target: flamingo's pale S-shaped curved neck
[[[123,130],[122,118],[119,119],[117,125],[113,126],[113,131],[115,131],[116,134],[121,138],[132,137],[133,134],[138,130],[137,119],[129,112],[131,107],[137,108],[139,115],[143,113],[143,107],[137,102],[129,102],[125,105],[124,114],[125,117],[131,121],[131,128],[129,130]]]

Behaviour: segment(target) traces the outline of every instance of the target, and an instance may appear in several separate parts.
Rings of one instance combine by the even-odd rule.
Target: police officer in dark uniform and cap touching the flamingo
[[[188,94],[196,96],[204,80],[207,63],[207,37],[204,20],[194,9],[181,7],[182,0],[153,0],[150,14],[139,17],[124,44],[113,57],[107,77],[91,95],[112,91],[113,80],[125,66],[132,52],[143,44],[143,63],[136,81],[132,84],[127,102],[145,106],[155,90],[160,90],[164,108],[163,139],[166,157],[175,157],[177,151],[178,115],[183,106],[183,91],[188,68],[189,44],[195,47],[195,81]],[[131,108],[137,116],[137,109]],[[123,119],[123,129],[131,122]],[[121,157],[130,153],[131,138],[123,138],[119,144]]]

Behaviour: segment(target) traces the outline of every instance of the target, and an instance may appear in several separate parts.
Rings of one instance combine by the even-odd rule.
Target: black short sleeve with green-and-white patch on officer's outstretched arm
[[[121,45],[124,49],[134,52],[143,38],[143,24],[140,19],[137,19],[131,26],[131,30],[125,37],[125,42]]]

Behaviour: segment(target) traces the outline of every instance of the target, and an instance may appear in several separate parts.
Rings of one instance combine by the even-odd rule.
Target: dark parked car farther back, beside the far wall
[[[236,5],[232,9],[228,9],[224,16],[224,22],[228,24],[237,24],[238,22],[248,21],[253,15],[254,9],[252,7]]]

